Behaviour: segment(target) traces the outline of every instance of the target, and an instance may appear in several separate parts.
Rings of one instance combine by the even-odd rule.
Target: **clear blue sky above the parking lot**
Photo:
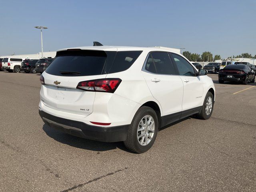
[[[0,55],[90,46],[167,46],[222,58],[256,54],[255,0],[2,0]]]

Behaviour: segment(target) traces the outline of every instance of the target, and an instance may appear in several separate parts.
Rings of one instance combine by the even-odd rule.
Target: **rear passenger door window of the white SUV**
[[[174,74],[174,68],[167,52],[151,52],[148,56],[145,69],[156,74]]]

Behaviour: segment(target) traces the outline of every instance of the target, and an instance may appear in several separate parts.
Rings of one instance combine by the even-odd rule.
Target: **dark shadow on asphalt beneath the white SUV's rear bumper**
[[[61,142],[63,144],[67,144],[72,147],[91,150],[91,151],[108,151],[119,148],[126,152],[130,152],[126,149],[123,142],[99,142],[94,140],[88,140],[76,136],[72,136],[70,134],[65,134],[60,131],[54,130],[50,128],[48,125],[44,124],[43,126],[44,132],[54,140]]]

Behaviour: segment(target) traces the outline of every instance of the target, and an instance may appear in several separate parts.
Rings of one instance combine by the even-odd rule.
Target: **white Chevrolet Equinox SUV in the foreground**
[[[62,132],[143,153],[161,127],[210,118],[215,88],[206,74],[171,48],[63,49],[40,77],[39,114]]]

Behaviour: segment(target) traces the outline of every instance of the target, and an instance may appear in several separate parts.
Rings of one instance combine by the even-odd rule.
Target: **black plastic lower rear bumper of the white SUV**
[[[130,125],[122,125],[115,127],[99,127],[85,124],[75,120],[60,118],[39,110],[42,120],[51,128],[74,136],[102,141],[102,142],[118,142],[126,140]]]

